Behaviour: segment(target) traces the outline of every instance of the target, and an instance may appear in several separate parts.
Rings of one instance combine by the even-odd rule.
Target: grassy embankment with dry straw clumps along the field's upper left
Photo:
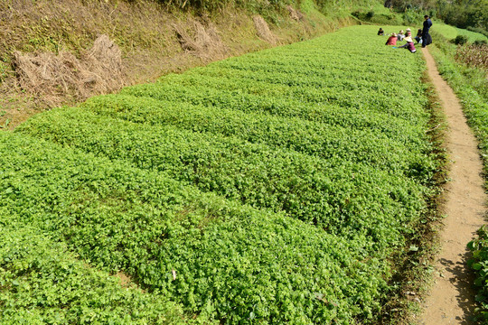
[[[313,1],[251,1],[211,11],[162,3],[167,2],[2,2],[0,126],[13,129],[51,107],[310,39],[357,23],[350,13],[375,2],[344,6],[330,1],[319,9]]]

